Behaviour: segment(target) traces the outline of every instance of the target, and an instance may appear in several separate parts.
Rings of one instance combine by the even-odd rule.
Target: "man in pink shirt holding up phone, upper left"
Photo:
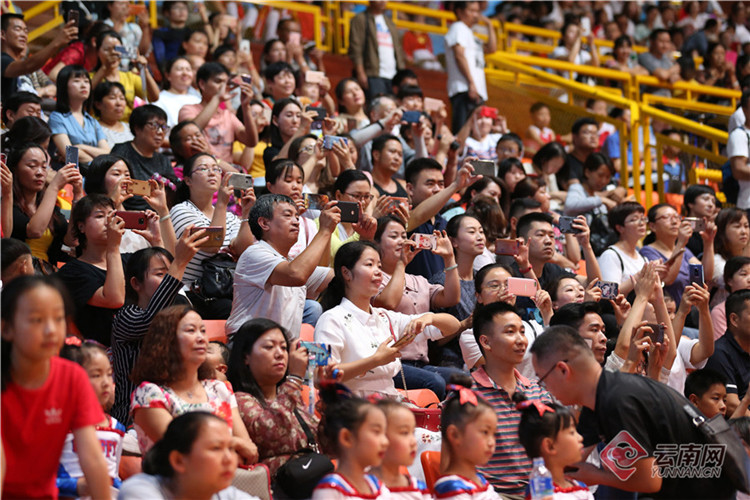
[[[199,104],[188,104],[180,109],[180,122],[192,120],[203,130],[213,155],[217,159],[232,163],[232,145],[239,141],[254,148],[258,143],[258,129],[255,127],[250,101],[253,88],[239,76],[230,81],[229,71],[220,63],[209,62],[198,68],[196,82],[201,91]],[[235,115],[229,103],[233,88],[242,89],[242,116],[244,123]],[[221,106],[224,104],[224,106]]]

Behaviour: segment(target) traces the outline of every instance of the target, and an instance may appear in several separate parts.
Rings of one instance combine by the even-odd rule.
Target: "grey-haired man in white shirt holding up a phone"
[[[299,233],[294,201],[278,194],[258,198],[248,217],[258,242],[237,261],[228,334],[246,321],[261,317],[279,323],[291,339],[299,337],[305,298],[317,297],[333,278],[332,269],[317,264],[329,252],[331,234],[341,221],[341,210],[335,203],[328,203],[321,211],[318,233],[292,260],[289,250]]]

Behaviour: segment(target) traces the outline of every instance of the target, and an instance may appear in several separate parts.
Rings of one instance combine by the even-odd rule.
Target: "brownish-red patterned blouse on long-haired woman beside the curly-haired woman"
[[[287,379],[276,391],[276,399],[262,406],[245,392],[238,392],[237,405],[250,439],[258,446],[260,463],[271,471],[271,477],[300,448],[307,446],[307,436],[297,417],[296,408],[313,436],[317,435],[318,419],[310,415],[302,402],[302,391],[297,382]]]

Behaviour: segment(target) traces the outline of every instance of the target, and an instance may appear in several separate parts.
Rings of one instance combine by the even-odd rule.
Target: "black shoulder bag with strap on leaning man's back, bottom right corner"
[[[729,427],[724,415],[718,413],[706,420],[691,405],[682,407],[690,419],[706,438],[708,444],[721,446],[725,450],[721,467],[732,486],[744,493],[750,493],[750,458],[737,433]]]

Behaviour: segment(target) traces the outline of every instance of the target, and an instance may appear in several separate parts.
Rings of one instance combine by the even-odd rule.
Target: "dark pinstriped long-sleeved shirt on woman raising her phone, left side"
[[[172,275],[165,275],[154,295],[141,309],[137,304],[122,307],[112,323],[112,369],[115,375],[115,404],[112,416],[125,425],[131,421],[130,395],[135,384],[130,381],[130,372],[141,350],[141,343],[148,332],[154,316],[172,305],[182,283]]]

